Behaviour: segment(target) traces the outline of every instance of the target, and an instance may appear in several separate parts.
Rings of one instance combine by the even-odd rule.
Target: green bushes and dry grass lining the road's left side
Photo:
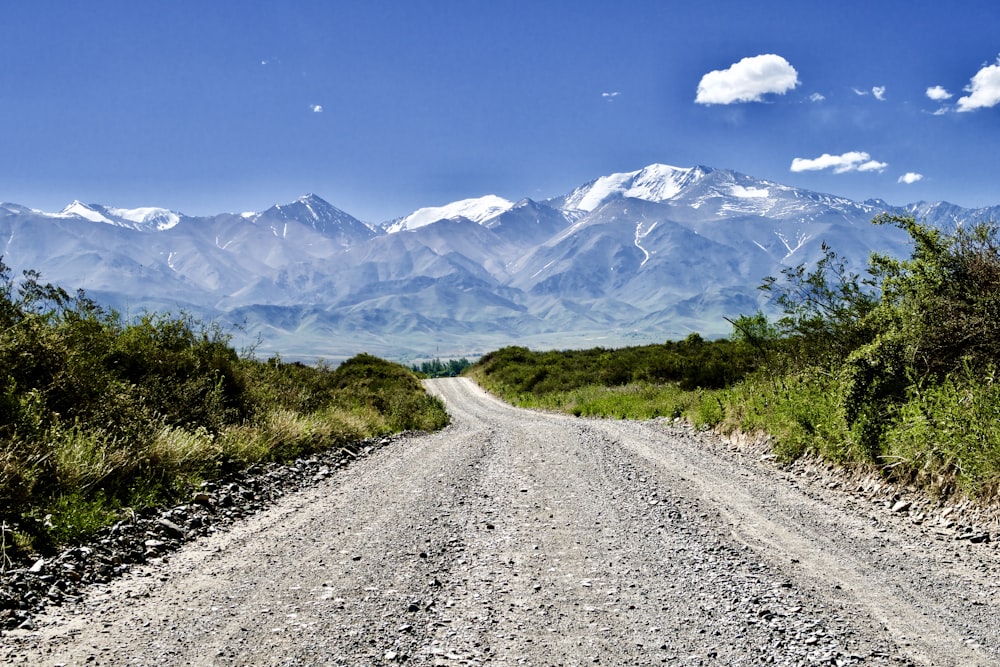
[[[55,548],[125,508],[256,461],[432,430],[448,416],[409,370],[241,359],[187,315],[123,321],[0,261],[0,522]]]

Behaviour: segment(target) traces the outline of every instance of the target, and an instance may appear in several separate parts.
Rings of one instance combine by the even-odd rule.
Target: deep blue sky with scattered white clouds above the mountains
[[[380,222],[662,162],[1000,204],[1000,3],[7,2],[0,201]]]

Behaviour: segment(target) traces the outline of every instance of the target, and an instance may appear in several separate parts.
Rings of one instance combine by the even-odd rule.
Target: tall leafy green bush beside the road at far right
[[[766,398],[748,389],[733,400],[743,421],[771,431],[787,455],[812,452],[942,492],[993,495],[1000,231],[984,223],[947,232],[888,214],[873,222],[905,230],[910,258],[873,255],[862,280],[825,248],[812,272],[800,266],[762,286],[785,310],[763,373],[788,385],[823,369],[828,386],[760,391],[761,374],[744,386]],[[759,318],[736,323],[748,339],[762,326]]]

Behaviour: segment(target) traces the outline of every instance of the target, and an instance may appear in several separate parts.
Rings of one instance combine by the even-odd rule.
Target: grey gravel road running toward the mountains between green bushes
[[[0,662],[1000,664],[993,545],[688,427],[428,386],[449,428],[54,609]]]

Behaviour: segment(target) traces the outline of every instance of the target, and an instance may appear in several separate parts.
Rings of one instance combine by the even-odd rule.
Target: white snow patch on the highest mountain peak
[[[602,176],[566,196],[563,208],[593,211],[619,197],[661,202],[676,196],[682,188],[705,174],[701,167],[671,167],[651,164],[638,171]]]

